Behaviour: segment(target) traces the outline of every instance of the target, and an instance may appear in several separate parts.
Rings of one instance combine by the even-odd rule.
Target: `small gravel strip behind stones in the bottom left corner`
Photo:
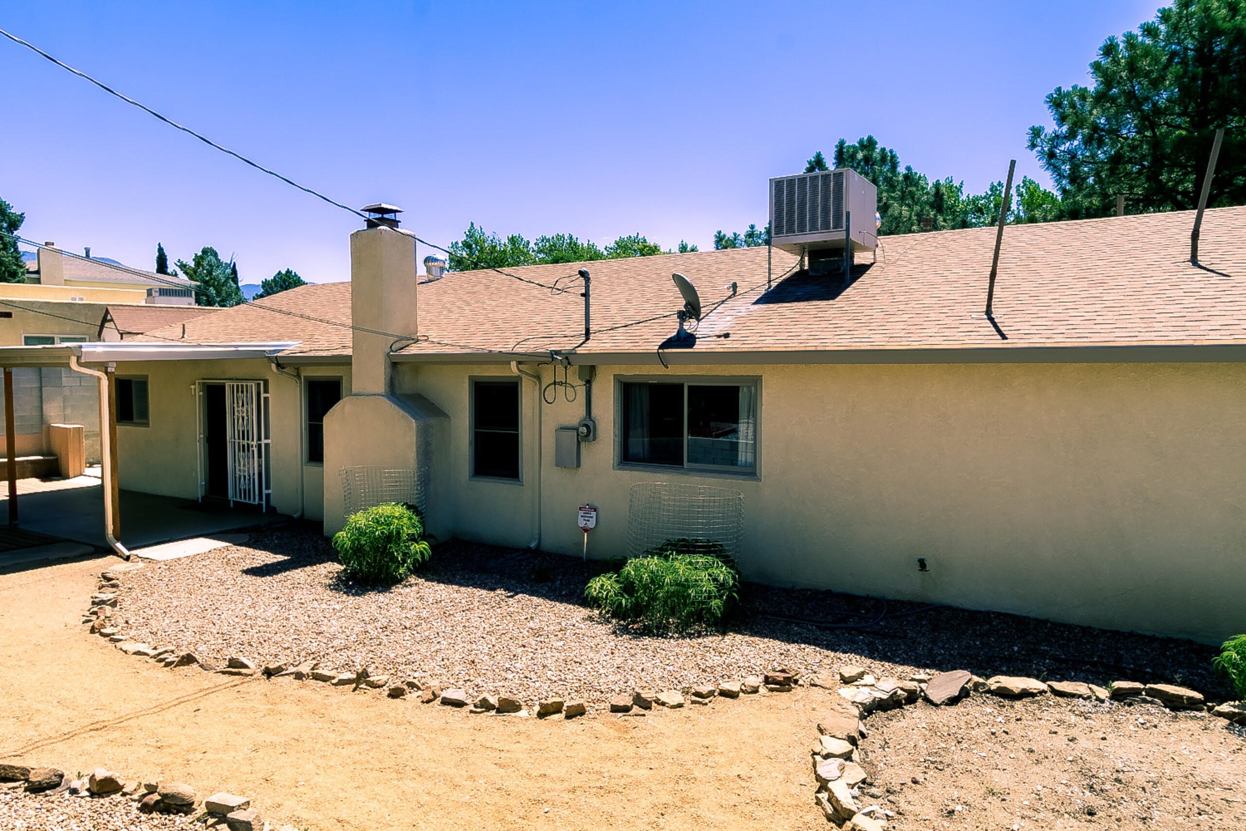
[[[138,812],[127,799],[44,796],[22,790],[0,791],[0,829],[14,831],[163,831],[191,829],[192,817]]]

